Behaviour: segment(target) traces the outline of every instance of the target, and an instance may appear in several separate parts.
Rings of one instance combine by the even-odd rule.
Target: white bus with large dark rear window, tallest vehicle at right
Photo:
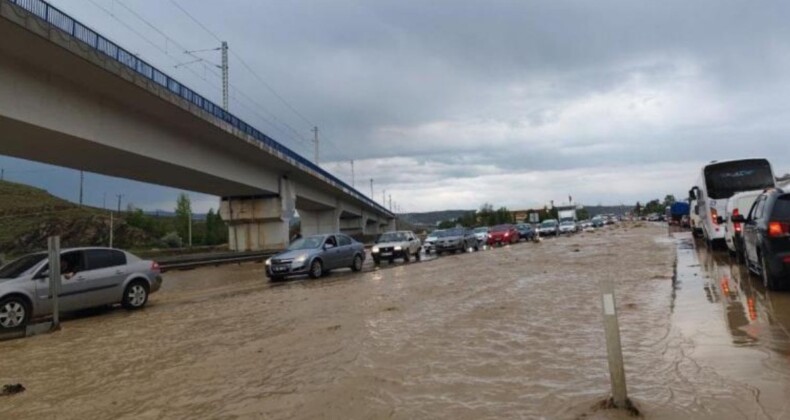
[[[713,161],[702,167],[697,184],[689,191],[699,216],[702,237],[708,245],[723,245],[727,200],[743,191],[775,188],[776,178],[767,159]]]

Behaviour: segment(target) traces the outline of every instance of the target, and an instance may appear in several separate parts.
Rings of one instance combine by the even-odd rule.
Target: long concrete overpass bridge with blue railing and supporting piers
[[[0,154],[222,197],[236,250],[375,234],[371,198],[41,0],[0,0]]]

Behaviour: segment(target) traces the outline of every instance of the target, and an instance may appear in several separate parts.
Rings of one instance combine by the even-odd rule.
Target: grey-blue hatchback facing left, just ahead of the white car
[[[365,246],[342,233],[313,235],[292,242],[288,248],[266,260],[266,276],[271,281],[307,274],[318,278],[330,270],[362,270]]]

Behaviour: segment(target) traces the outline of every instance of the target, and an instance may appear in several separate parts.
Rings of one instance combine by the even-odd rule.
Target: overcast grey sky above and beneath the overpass
[[[229,43],[232,112],[308,158],[319,126],[322,166],[351,183],[353,159],[358,189],[373,178],[404,211],[682,196],[714,159],[790,172],[788,2],[175,1],[51,3],[220,103],[211,63],[174,67],[218,46],[180,5]],[[0,166],[77,197],[73,170]],[[178,193],[86,186],[94,205],[172,209]]]

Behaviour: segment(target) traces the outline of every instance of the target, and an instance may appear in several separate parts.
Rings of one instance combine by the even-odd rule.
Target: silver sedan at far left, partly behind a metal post
[[[60,253],[63,312],[120,303],[139,309],[162,286],[159,264],[113,248],[69,248]],[[24,327],[52,313],[49,254],[28,254],[0,267],[0,330]]]

